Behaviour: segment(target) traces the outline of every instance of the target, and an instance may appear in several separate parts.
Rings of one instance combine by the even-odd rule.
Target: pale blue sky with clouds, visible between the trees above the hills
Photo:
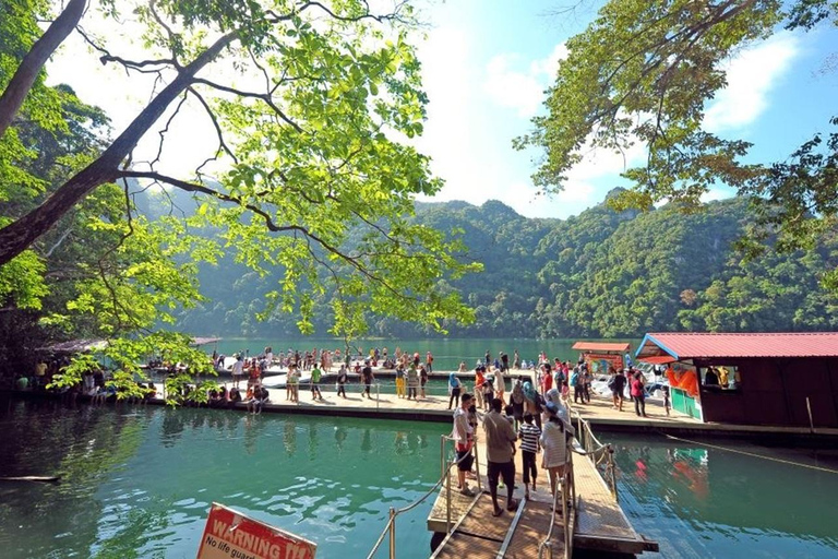
[[[564,191],[552,197],[538,195],[530,180],[531,159],[539,154],[512,148],[513,138],[526,133],[530,118],[541,110],[543,91],[566,55],[564,41],[584,31],[596,15],[590,7],[599,2],[582,2],[571,14],[554,15],[571,0],[417,1],[429,24],[417,45],[430,105],[426,133],[416,145],[432,157],[433,173],[445,179],[433,200],[500,200],[529,217],[567,217],[625,183],[619,175],[626,164],[643,160],[642,148],[631,152],[627,162],[610,153],[588,156],[571,171]],[[89,14],[82,23],[113,36],[110,25],[96,29]],[[142,58],[130,38],[113,40],[119,53]],[[144,76],[127,80],[112,66],[103,68],[77,34],[48,72],[51,83],[69,83],[83,99],[101,106],[115,131],[136,116],[152,90]],[[826,130],[836,114],[838,29],[781,32],[751,45],[730,61],[728,80],[729,87],[708,106],[706,128],[753,142],[754,160],[783,158],[815,131]],[[214,138],[202,109],[187,104],[167,140],[177,148],[167,151],[160,167],[194,169],[214,150]],[[156,132],[149,132],[134,160],[142,160],[143,152],[152,158],[156,140]],[[718,186],[707,199],[731,193]]]

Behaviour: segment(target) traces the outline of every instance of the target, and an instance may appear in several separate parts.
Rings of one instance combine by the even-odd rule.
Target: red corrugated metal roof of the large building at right
[[[646,334],[637,357],[838,357],[838,332]]]

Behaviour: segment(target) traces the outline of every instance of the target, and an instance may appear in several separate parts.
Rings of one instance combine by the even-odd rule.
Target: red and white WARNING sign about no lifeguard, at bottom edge
[[[314,559],[316,544],[214,502],[197,559]]]

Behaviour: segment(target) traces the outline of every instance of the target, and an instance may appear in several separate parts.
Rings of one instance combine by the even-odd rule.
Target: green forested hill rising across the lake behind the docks
[[[615,213],[604,205],[566,221],[530,219],[490,201],[417,205],[417,219],[459,230],[465,258],[486,270],[452,286],[476,309],[453,336],[622,337],[648,331],[805,331],[838,328],[838,297],[818,276],[838,265],[833,233],[809,252],[769,251],[743,262],[733,241],[752,221],[741,199],[683,214],[665,206]],[[230,261],[201,272],[208,300],[184,312],[179,328],[195,334],[290,335],[297,318],[260,322],[260,294],[277,274],[260,277]],[[318,332],[326,333],[323,305]],[[424,335],[416,326],[370,317],[370,334]]]

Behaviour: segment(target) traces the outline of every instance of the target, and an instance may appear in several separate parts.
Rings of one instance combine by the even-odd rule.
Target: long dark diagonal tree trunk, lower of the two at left
[[[163,116],[171,102],[190,85],[197,71],[217,57],[237,37],[237,32],[220,37],[184,67],[95,162],[74,175],[38,207],[0,229],[0,266],[26,250],[92,190],[99,185],[112,181],[119,173],[120,163],[131,153],[152,124]]]

